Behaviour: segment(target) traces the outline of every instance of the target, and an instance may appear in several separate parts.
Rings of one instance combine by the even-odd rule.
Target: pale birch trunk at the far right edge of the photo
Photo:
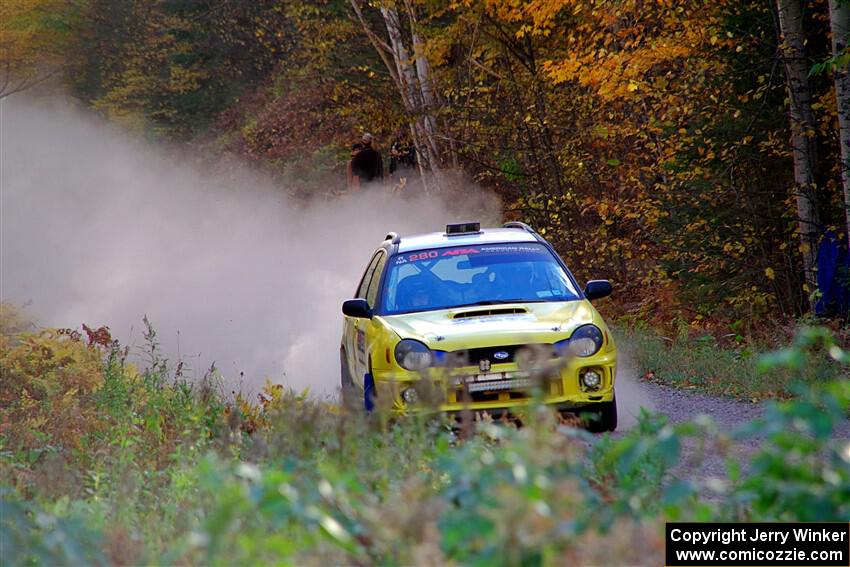
[[[829,24],[832,28],[832,55],[838,56],[850,41],[850,4],[847,0],[829,0]],[[841,184],[844,187],[844,215],[847,245],[850,247],[850,69],[835,67],[835,98],[838,103],[838,139],[841,144]]]

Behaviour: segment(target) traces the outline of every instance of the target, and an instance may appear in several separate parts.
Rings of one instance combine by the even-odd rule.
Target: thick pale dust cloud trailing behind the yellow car
[[[0,299],[43,326],[108,325],[137,352],[147,315],[190,376],[215,362],[246,392],[268,377],[330,395],[340,304],[386,232],[499,219],[472,189],[451,206],[304,203],[244,166],[200,163],[65,101],[0,100]]]

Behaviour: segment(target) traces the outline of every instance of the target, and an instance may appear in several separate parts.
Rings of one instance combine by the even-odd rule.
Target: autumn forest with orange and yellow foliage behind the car
[[[403,128],[427,190],[494,189],[506,219],[537,228],[580,280],[613,280],[609,310],[752,335],[835,314],[824,293],[841,301],[846,267],[817,268],[848,238],[848,12],[840,0],[11,0],[0,96],[60,83],[128,129],[239,156],[303,195],[344,189],[362,132],[386,155]]]

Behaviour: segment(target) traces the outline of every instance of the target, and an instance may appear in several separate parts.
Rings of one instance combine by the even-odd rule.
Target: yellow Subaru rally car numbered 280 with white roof
[[[610,293],[605,280],[581,290],[523,223],[390,233],[342,306],[343,393],[367,411],[496,416],[536,398],[613,431],[617,351],[590,303]]]

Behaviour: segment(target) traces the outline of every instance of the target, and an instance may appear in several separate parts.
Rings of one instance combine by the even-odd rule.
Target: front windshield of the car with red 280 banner
[[[537,243],[400,253],[390,260],[384,289],[381,311],[387,315],[579,297],[561,264]]]

